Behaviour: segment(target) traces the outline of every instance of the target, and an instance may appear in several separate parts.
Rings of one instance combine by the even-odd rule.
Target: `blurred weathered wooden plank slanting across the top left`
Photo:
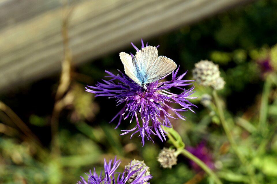
[[[0,2],[0,92],[60,70],[64,8],[57,2]],[[242,2],[246,1],[73,1],[75,8],[69,37],[74,65],[116,50],[130,41],[190,24]],[[20,5],[23,10],[14,7]]]

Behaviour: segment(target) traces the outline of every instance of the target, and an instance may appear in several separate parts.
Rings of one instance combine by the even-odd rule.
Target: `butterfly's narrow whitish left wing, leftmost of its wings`
[[[123,63],[125,74],[130,77],[137,84],[141,85],[139,79],[134,75],[134,65],[132,61],[132,56],[126,52],[119,53],[120,60]]]

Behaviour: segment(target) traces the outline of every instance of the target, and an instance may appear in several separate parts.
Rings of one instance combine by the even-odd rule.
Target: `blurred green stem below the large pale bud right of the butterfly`
[[[228,124],[225,121],[223,109],[222,109],[221,103],[219,101],[218,95],[216,93],[216,90],[213,91],[213,96],[214,96],[214,100],[215,100],[215,103],[216,103],[216,107],[218,109],[219,118],[220,118],[221,124],[223,126],[223,129],[226,133],[227,139],[229,140],[230,145],[233,148],[233,150],[234,150],[235,154],[237,155],[237,157],[239,158],[240,162],[242,162],[242,164],[246,167],[246,170],[247,170],[248,175],[250,177],[249,178],[250,183],[255,184],[256,182],[254,180],[254,173],[252,172],[251,168],[249,168],[249,165],[247,165],[245,157],[239,151],[239,149],[237,147],[237,144],[235,143],[235,140],[233,139],[231,131],[228,127]]]

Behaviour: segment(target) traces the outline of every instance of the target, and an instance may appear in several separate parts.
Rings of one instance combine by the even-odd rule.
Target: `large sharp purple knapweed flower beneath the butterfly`
[[[144,48],[143,41],[141,40],[141,42],[141,48]],[[147,45],[148,44],[146,44],[146,46]],[[134,48],[139,52],[138,48],[135,46]],[[133,57],[134,55],[131,54],[131,56]],[[183,88],[184,86],[191,85],[192,83],[187,82],[192,82],[193,80],[183,80],[186,72],[180,76],[177,76],[178,71],[179,67],[176,69],[176,71],[172,72],[172,79],[170,81],[154,81],[145,85],[146,89],[145,87],[135,83],[121,71],[119,71],[119,74],[117,75],[109,71],[105,71],[108,73],[108,76],[106,77],[110,77],[111,79],[102,79],[103,82],[98,82],[96,86],[87,86],[88,88],[86,87],[86,91],[94,93],[96,96],[108,96],[109,98],[116,98],[117,105],[124,104],[124,107],[121,109],[121,111],[119,111],[119,113],[117,113],[117,115],[111,120],[112,122],[117,116],[119,116],[119,122],[115,128],[119,126],[122,119],[131,117],[130,122],[132,122],[132,119],[135,117],[136,126],[130,130],[121,130],[124,133],[120,135],[134,131],[131,135],[132,137],[135,133],[139,132],[143,145],[145,137],[148,140],[152,140],[150,137],[151,134],[157,135],[162,141],[165,141],[166,139],[164,133],[166,132],[163,130],[163,126],[171,127],[169,117],[177,119],[176,117],[173,117],[168,111],[172,111],[177,115],[177,117],[185,120],[185,117],[181,115],[179,111],[187,111],[186,109],[192,111],[192,106],[195,106],[188,100],[196,98],[190,96],[192,93],[194,93],[194,86],[188,90]],[[164,79],[165,77],[166,76],[162,77],[161,79]],[[169,89],[172,88],[181,90],[181,93],[175,94],[171,92]],[[169,106],[171,103],[178,104],[181,107],[173,108]],[[141,122],[139,119],[141,119]]]

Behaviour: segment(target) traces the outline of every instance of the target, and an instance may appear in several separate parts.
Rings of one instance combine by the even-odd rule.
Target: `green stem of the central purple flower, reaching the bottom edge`
[[[171,134],[167,135],[171,143],[177,148],[177,151],[175,153],[182,154],[188,159],[192,160],[195,162],[197,165],[199,165],[212,179],[214,179],[216,184],[222,184],[220,179],[216,176],[216,174],[204,163],[202,162],[199,158],[196,156],[192,155],[189,151],[186,149],[179,147],[179,144],[177,141],[173,138]]]

